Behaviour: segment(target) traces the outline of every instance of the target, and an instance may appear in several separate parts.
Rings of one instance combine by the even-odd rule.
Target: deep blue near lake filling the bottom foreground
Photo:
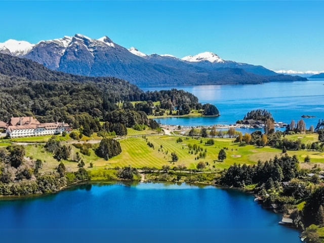
[[[185,183],[87,184],[0,200],[1,242],[300,242],[253,199]]]

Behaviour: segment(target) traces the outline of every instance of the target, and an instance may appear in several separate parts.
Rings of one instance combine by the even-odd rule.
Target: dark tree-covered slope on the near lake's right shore
[[[296,155],[275,156],[263,163],[259,160],[253,166],[234,164],[224,170],[219,183],[234,187],[253,185],[254,193],[262,197],[265,207],[276,204],[284,213],[289,213],[294,226],[302,230],[311,224],[321,226],[324,222],[324,214],[320,212],[324,187],[318,176],[310,177],[307,170],[299,169]],[[303,201],[305,207],[298,210],[296,205]]]

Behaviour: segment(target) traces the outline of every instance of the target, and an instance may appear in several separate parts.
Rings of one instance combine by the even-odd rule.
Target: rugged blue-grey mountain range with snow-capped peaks
[[[205,52],[182,59],[172,55],[146,55],[126,49],[107,36],[92,39],[82,34],[30,44],[9,41],[0,53],[27,58],[45,67],[86,76],[114,76],[135,85],[260,84],[307,80],[277,74],[263,66],[226,61]]]

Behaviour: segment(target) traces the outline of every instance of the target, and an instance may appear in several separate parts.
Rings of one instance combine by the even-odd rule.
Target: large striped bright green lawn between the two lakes
[[[124,167],[131,165],[136,168],[143,166],[161,168],[163,165],[170,165],[171,167],[177,165],[185,165],[188,169],[195,169],[199,161],[208,162],[208,168],[224,169],[228,168],[233,163],[240,164],[255,164],[257,160],[253,159],[256,154],[262,153],[260,158],[268,159],[269,152],[272,154],[280,155],[279,149],[266,148],[269,151],[264,153],[263,149],[256,149],[252,145],[239,147],[237,144],[232,143],[233,139],[215,139],[215,145],[205,145],[205,141],[200,143],[200,139],[183,139],[182,143],[177,143],[178,137],[173,136],[153,136],[147,137],[147,141],[154,144],[154,149],[147,145],[143,138],[128,138],[120,140],[120,145],[123,150],[121,154],[109,159],[108,161],[96,161],[94,163],[97,167],[114,168]],[[188,144],[196,144],[201,148],[207,149],[206,158],[199,158],[195,160],[198,154],[189,153]],[[162,147],[161,147],[162,146]],[[218,160],[218,152],[221,148],[227,147],[227,158],[221,162]],[[168,152],[167,152],[168,151]],[[179,160],[175,163],[172,162],[171,152],[176,152]],[[213,168],[215,166],[215,168]]]

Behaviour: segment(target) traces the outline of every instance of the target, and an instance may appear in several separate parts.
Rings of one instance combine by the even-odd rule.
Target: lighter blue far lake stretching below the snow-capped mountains
[[[188,91],[198,97],[200,103],[216,105],[219,117],[168,117],[158,118],[161,124],[182,126],[211,126],[234,124],[254,109],[266,109],[275,121],[290,124],[291,120],[303,118],[308,129],[316,127],[318,119],[324,118],[324,79],[307,82],[266,83],[263,85],[208,85],[208,86],[158,86],[140,87],[144,91],[169,90],[172,88]]]

